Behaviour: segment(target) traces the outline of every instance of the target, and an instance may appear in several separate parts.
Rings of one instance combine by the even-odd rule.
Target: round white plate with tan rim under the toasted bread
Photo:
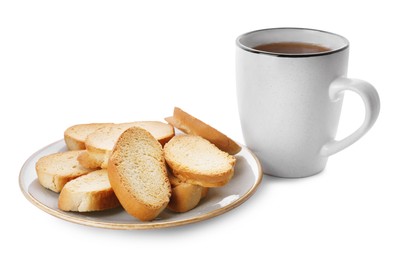
[[[38,208],[58,218],[88,226],[111,229],[154,229],[180,226],[223,214],[245,202],[262,180],[261,166],[246,147],[236,155],[235,174],[231,181],[219,188],[209,189],[208,195],[194,209],[174,213],[165,209],[156,219],[142,222],[129,215],[123,208],[101,212],[77,213],[58,209],[58,193],[43,188],[35,170],[37,160],[45,155],[66,151],[64,140],[52,143],[34,153],[22,166],[19,185],[25,197]]]

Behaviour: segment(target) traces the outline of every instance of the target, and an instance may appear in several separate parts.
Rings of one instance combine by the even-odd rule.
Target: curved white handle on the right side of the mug
[[[332,140],[321,148],[322,156],[333,155],[359,140],[373,126],[380,112],[380,98],[377,90],[368,82],[359,79],[337,78],[329,88],[330,99],[334,102],[342,98],[345,90],[351,90],[360,95],[363,100],[365,117],[363,124],[351,135],[342,140]]]

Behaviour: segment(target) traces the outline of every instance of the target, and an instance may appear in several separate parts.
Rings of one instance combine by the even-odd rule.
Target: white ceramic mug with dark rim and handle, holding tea
[[[275,53],[254,47],[302,42],[327,47],[315,53]],[[328,157],[361,138],[376,121],[375,88],[346,77],[349,42],[337,34],[304,28],[271,28],[236,40],[238,108],[246,145],[264,173],[307,177],[322,171]],[[351,90],[365,105],[363,124],[335,140],[343,94]]]

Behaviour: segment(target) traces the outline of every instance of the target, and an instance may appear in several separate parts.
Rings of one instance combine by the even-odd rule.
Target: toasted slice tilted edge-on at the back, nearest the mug
[[[229,154],[234,155],[241,151],[241,146],[227,137],[225,134],[219,132],[212,126],[193,117],[178,107],[175,107],[173,116],[167,117],[165,120],[186,134],[199,135],[207,139],[216,145],[220,150]]]

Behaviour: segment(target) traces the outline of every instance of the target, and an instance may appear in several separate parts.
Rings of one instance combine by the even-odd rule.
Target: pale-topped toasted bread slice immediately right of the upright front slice
[[[219,187],[234,174],[235,157],[200,136],[177,135],[164,151],[173,175],[191,184]]]

